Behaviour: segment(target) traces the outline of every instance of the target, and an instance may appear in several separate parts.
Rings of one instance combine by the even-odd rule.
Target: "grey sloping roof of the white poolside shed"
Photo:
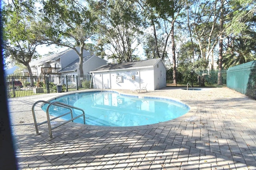
[[[154,65],[156,65],[160,61],[162,61],[162,59],[157,58],[157,59],[148,59],[148,60],[119,63],[119,64],[108,64],[108,65],[102,65],[101,67],[98,67],[97,69],[94,69],[93,71],[90,71],[90,72],[154,67]]]

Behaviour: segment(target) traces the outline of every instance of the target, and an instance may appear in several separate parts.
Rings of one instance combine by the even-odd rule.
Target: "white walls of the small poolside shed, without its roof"
[[[157,67],[158,65],[158,67]],[[120,82],[117,80],[120,78]],[[156,90],[166,87],[166,67],[162,61],[154,67],[122,69],[93,73],[94,88]]]

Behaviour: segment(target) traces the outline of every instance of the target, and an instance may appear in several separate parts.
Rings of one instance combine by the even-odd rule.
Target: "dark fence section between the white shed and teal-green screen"
[[[218,78],[219,77],[219,78]],[[173,81],[173,72],[166,72],[166,85],[185,87],[189,83],[192,87],[222,87],[226,86],[226,70],[224,71],[200,71],[184,73],[176,72],[176,84]]]

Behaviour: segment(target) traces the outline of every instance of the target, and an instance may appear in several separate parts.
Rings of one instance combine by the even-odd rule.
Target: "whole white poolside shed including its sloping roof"
[[[161,58],[102,65],[93,71],[94,89],[156,90],[166,87],[166,66]]]

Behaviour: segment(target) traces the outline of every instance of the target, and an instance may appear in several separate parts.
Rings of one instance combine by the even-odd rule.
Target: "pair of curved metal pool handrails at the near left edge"
[[[34,107],[36,106],[36,104],[38,104],[38,103],[40,103],[40,102],[42,102],[42,103],[48,103],[48,104],[49,104],[48,107],[47,107],[47,109],[46,109],[47,121],[44,121],[44,122],[42,122],[42,123],[37,123],[37,122],[36,122],[36,115],[35,115]],[[50,119],[49,108],[50,108],[51,105],[55,105],[55,106],[58,106],[58,107],[63,107],[63,108],[69,109],[70,111],[67,112],[67,113],[64,113],[64,114],[62,114],[62,115],[60,115],[60,116],[58,116],[58,117],[54,117],[54,118]],[[74,118],[73,118],[73,111],[72,111],[72,109],[80,110],[80,111],[82,111],[82,114],[81,114],[81,115],[78,115],[77,117],[74,117]],[[48,129],[49,129],[49,136],[50,136],[50,138],[52,138],[52,129],[57,128],[57,127],[60,127],[61,125],[64,125],[64,124],[66,124],[66,123],[68,123],[68,122],[70,122],[70,121],[73,122],[73,120],[75,120],[75,119],[77,119],[77,118],[79,118],[79,117],[82,117],[82,116],[84,117],[84,124],[85,124],[85,113],[84,113],[84,110],[82,110],[82,109],[80,109],[80,108],[78,108],[78,107],[74,107],[74,106],[67,105],[67,104],[65,104],[65,103],[60,103],[60,102],[58,102],[58,101],[54,101],[54,102],[48,102],[48,101],[43,101],[43,100],[37,101],[37,102],[34,103],[34,105],[32,106],[32,114],[33,114],[33,118],[34,118],[34,124],[35,124],[35,127],[36,127],[36,134],[39,134],[39,132],[38,132],[38,126],[39,126],[39,125],[42,125],[42,124],[44,124],[44,123],[48,123]],[[65,116],[65,115],[68,115],[68,114],[71,114],[71,119],[70,119],[70,120],[65,121],[65,122],[63,122],[63,123],[61,123],[61,124],[59,124],[59,125],[54,126],[54,127],[51,127],[51,121],[52,121],[52,120],[58,119],[58,118],[60,118],[60,117],[63,117],[63,116]]]

